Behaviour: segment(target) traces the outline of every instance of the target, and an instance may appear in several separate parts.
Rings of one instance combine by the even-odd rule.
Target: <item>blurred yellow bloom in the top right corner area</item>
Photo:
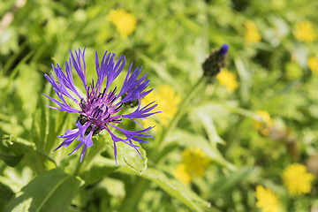
[[[300,42],[313,42],[316,34],[314,33],[314,27],[310,21],[296,23],[296,30],[294,36]]]

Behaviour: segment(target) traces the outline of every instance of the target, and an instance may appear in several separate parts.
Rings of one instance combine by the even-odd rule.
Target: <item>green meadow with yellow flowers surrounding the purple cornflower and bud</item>
[[[310,0],[0,1],[0,211],[317,211],[317,9]],[[226,67],[202,79],[223,43]],[[55,95],[43,74],[85,47],[88,82],[95,50],[148,72],[155,91],[143,102],[163,113],[144,122],[156,127],[143,159],[120,146],[117,167],[107,134],[80,165],[72,148],[52,152],[77,117],[45,106],[42,94]]]

